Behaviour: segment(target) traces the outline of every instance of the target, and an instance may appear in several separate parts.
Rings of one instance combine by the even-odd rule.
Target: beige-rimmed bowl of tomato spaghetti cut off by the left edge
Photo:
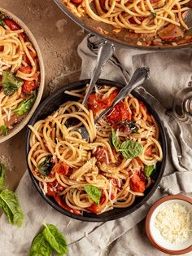
[[[41,100],[44,65],[27,26],[0,8],[0,143],[27,125]]]

